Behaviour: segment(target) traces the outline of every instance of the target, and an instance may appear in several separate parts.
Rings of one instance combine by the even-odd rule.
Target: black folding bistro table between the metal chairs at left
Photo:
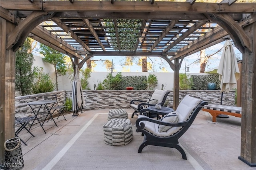
[[[30,106],[30,108],[32,109],[34,115],[36,116],[35,119],[33,120],[32,124],[31,124],[30,128],[32,127],[34,121],[37,119],[37,121],[39,122],[40,126],[44,130],[44,128],[43,128],[44,122],[41,123],[38,120],[38,113],[39,113],[40,109],[42,108],[42,106],[44,106],[46,108],[46,110],[48,111],[48,113],[46,115],[46,118],[48,117],[48,115],[50,115],[50,118],[54,121],[50,111],[51,111],[52,107],[54,106],[54,103],[56,103],[56,102],[57,102],[56,100],[42,100],[42,101],[31,101],[31,102],[28,102],[27,104]],[[48,105],[50,105],[50,104],[51,104],[51,107],[48,107]],[[38,110],[36,110],[36,108],[38,108],[38,107],[32,108],[32,105],[40,105],[40,107],[39,107]],[[44,121],[46,120],[46,118],[44,119]],[[56,126],[58,126],[55,121],[54,121],[54,123],[55,123]],[[30,128],[29,128],[29,130],[30,130]],[[46,133],[45,130],[44,130],[44,133]]]

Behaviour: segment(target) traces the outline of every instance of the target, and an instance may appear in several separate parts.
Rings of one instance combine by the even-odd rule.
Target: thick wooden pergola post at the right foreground
[[[252,40],[256,40],[256,23],[244,28]],[[252,53],[245,48],[242,60],[242,120],[241,156],[249,166],[256,166],[256,45]]]

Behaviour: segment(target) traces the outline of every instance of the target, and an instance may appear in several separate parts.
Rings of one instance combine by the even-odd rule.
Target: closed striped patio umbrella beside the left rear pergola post
[[[84,95],[82,91],[82,85],[79,78],[79,71],[78,71],[78,65],[76,65],[75,68],[75,76],[73,80],[72,85],[72,111],[73,116],[78,116],[78,111],[82,110],[82,107],[84,107],[85,101],[84,101]]]

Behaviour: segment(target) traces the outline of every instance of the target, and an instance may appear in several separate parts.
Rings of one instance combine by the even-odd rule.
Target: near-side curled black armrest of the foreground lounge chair
[[[158,125],[165,125],[165,126],[170,126],[170,127],[184,127],[189,122],[189,121],[184,121],[184,122],[179,122],[179,123],[168,123],[168,122],[164,122],[164,121],[158,121],[156,119],[152,119],[149,117],[139,117],[135,123],[135,125],[138,129],[143,129],[145,127],[145,124],[141,121],[148,121],[148,122],[156,123]]]

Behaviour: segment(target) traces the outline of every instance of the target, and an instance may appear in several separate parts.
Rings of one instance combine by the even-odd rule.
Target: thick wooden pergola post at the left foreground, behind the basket
[[[15,25],[2,18],[0,22],[1,42],[6,42],[6,35]],[[15,52],[6,50],[6,43],[1,43],[0,48],[0,161],[4,162],[4,142],[14,137]]]

